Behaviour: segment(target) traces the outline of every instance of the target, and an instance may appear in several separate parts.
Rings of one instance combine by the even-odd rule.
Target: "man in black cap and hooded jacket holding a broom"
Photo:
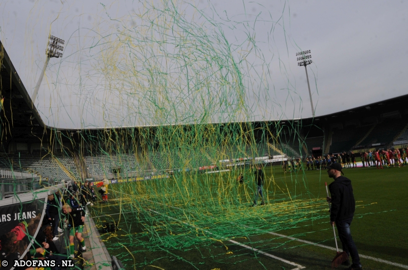
[[[334,182],[328,185],[331,194],[331,197],[327,197],[327,201],[331,202],[330,225],[336,224],[343,251],[348,256],[351,255],[353,263],[348,269],[361,270],[359,252],[355,247],[350,232],[355,209],[353,188],[350,179],[341,175],[343,173],[342,169],[340,163],[334,163],[327,167],[328,177],[335,179]]]

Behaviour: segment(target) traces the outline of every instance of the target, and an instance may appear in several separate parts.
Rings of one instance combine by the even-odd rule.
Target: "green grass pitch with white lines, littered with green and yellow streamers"
[[[351,233],[359,253],[364,256],[361,258],[364,269],[408,268],[408,234],[404,230],[408,206],[403,203],[408,191],[408,167],[382,170],[346,168],[344,172],[352,181],[356,199]],[[267,183],[275,183],[266,185],[268,204],[265,206],[248,207],[254,187],[250,177],[246,177],[245,187],[237,186],[238,189],[248,190],[242,191],[244,195],[239,200],[241,206],[235,212],[245,220],[252,220],[252,223],[247,227],[237,225],[226,228],[233,230],[231,235],[235,236],[231,238],[212,234],[217,231],[217,224],[204,227],[191,219],[199,215],[214,215],[216,218],[222,216],[223,211],[231,211],[227,208],[220,212],[197,209],[197,213],[191,213],[194,207],[184,209],[183,203],[169,206],[144,201],[143,211],[149,212],[149,219],[146,219],[146,216],[140,215],[140,208],[133,205],[134,198],[123,196],[123,189],[119,188],[119,185],[127,185],[132,189],[136,183],[112,185],[111,201],[108,204],[95,204],[90,211],[98,226],[105,222],[117,222],[120,217],[120,230],[102,234],[101,238],[110,254],[116,255],[126,269],[300,269],[299,266],[305,269],[331,269],[330,262],[336,252],[327,248],[334,248],[335,244],[327,207],[324,206],[327,205],[324,182],[330,183],[333,179],[327,177],[326,171],[311,170],[296,175],[284,173],[278,166],[266,167],[265,174]],[[304,178],[307,181],[302,182]],[[299,188],[302,185],[296,186],[296,182],[302,182],[304,189]],[[278,190],[276,187],[279,187]],[[303,193],[305,203],[314,201],[310,205],[316,208],[316,211],[310,212],[312,217],[289,227],[276,227],[271,225],[270,220],[263,221],[263,213],[276,212],[279,207],[287,207],[283,213],[292,211],[290,203],[282,201],[286,196],[284,187],[288,192],[294,192],[297,188],[296,193]],[[287,197],[290,197],[290,193]],[[168,207],[173,215],[166,215]],[[169,228],[172,231],[168,231]],[[257,251],[251,250],[251,247]]]

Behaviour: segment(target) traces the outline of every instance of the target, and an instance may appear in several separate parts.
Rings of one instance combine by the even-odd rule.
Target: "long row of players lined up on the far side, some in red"
[[[399,149],[378,149],[374,152],[364,152],[360,154],[361,162],[363,163],[363,167],[373,167],[376,166],[378,169],[384,167],[401,167],[402,165],[407,164],[407,153],[408,148],[402,148],[401,151]],[[333,163],[341,163],[344,168],[355,168],[357,167],[356,164],[356,155],[353,151],[350,153],[341,153],[337,155],[327,155],[327,156],[319,156],[317,158],[309,157],[305,161],[306,169],[307,170],[325,170],[327,166]],[[379,167],[378,167],[379,166]],[[292,168],[293,167],[293,168]],[[297,169],[303,169],[303,162],[301,159],[293,159],[287,160],[283,163],[283,168],[285,172],[289,170],[289,172],[297,171]]]

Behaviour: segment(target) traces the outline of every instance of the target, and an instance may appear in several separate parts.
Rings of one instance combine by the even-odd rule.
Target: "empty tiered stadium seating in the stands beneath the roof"
[[[370,146],[372,143],[390,143],[402,131],[407,122],[406,119],[387,119],[377,125],[361,144]],[[372,125],[363,127],[349,126],[342,130],[334,130],[329,152],[349,151],[372,127]],[[398,140],[408,140],[408,130],[404,131]],[[270,143],[288,157],[300,158],[310,154],[313,147],[322,147],[323,136],[308,137],[303,141],[297,134],[281,134],[277,137],[277,140]],[[307,146],[309,153],[304,153],[302,144]],[[84,155],[83,160],[91,176],[112,175],[114,170],[119,168],[121,174],[124,175],[129,172],[141,171],[143,168],[138,163],[134,153],[108,152],[87,152]],[[176,149],[172,151],[150,151],[145,158],[155,169],[167,170],[183,167],[197,169],[198,167],[215,164],[219,160],[277,155],[281,155],[281,153],[275,151],[268,143],[260,141],[252,145],[225,145],[211,149],[188,149],[184,152],[179,152]],[[14,171],[37,173],[42,177],[52,177],[60,180],[80,177],[72,153],[50,153],[45,149],[35,150],[32,154],[28,152],[4,153],[0,155],[0,168],[8,170],[12,168]]]

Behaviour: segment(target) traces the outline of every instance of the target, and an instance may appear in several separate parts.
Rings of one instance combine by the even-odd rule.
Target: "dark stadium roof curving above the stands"
[[[9,55],[7,54],[3,44],[0,41],[1,49],[1,96],[4,97],[3,110],[1,113],[1,121],[6,129],[3,130],[3,136],[11,135],[10,137],[18,139],[29,139],[33,137],[41,137],[48,130],[59,130],[67,132],[77,131],[96,131],[106,129],[125,129],[136,127],[109,127],[109,128],[87,128],[87,129],[60,129],[46,126],[42,121],[37,109],[33,105],[31,97],[22,84],[19,75],[17,74]],[[331,123],[350,121],[354,119],[364,118],[367,116],[386,115],[399,110],[399,113],[407,114],[408,109],[405,109],[408,103],[408,95],[359,106],[353,109],[348,109],[336,113],[317,116],[313,118],[301,119],[302,125],[311,125],[312,123],[320,127],[327,126]],[[285,121],[299,121],[300,119],[286,119]],[[265,121],[257,121],[254,123]],[[277,121],[269,121],[271,123]],[[222,124],[222,123],[220,123]]]

